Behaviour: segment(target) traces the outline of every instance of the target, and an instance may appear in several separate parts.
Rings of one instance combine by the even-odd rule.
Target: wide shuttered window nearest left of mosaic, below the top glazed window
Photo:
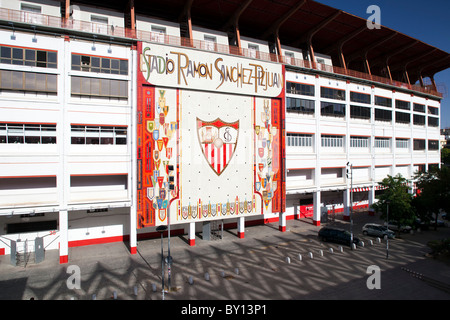
[[[128,81],[103,78],[71,77],[73,96],[128,98]]]

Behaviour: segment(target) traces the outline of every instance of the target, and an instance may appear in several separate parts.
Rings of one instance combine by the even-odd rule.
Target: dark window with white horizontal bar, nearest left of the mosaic
[[[72,144],[127,144],[127,127],[124,126],[71,126]]]

